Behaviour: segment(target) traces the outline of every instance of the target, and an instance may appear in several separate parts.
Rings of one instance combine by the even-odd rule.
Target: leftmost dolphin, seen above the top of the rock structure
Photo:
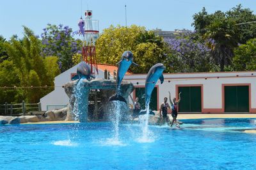
[[[91,78],[95,78],[94,75],[91,73],[91,66],[85,63],[84,61],[81,61],[76,69],[77,75],[72,77],[72,81],[76,81],[77,79],[81,79],[82,77],[86,78],[88,81],[90,81]]]

